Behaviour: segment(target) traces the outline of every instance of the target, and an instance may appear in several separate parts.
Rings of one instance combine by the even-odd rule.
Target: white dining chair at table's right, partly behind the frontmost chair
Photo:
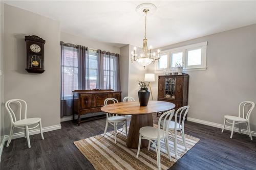
[[[189,106],[183,106],[183,107],[179,108],[175,113],[174,121],[170,121],[170,124],[169,124],[169,130],[174,131],[174,135],[172,132],[170,134],[172,134],[173,139],[174,139],[175,156],[177,156],[177,137],[176,136],[177,136],[178,130],[181,132],[183,145],[185,147],[185,150],[187,150],[186,138],[185,138],[185,132],[184,132],[185,131],[184,124],[185,124],[185,117],[187,115],[188,110],[189,110]],[[179,123],[177,122],[178,117],[179,117]],[[182,120],[182,122],[181,122],[181,120]],[[161,127],[163,127],[163,121],[161,122]]]

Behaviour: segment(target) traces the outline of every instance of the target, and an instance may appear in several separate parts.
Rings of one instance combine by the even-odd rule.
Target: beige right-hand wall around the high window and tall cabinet
[[[186,72],[190,76],[188,117],[223,124],[224,115],[238,115],[240,102],[256,103],[256,25],[164,46],[160,50],[203,41],[208,41],[207,70]],[[153,65],[148,72],[154,72]],[[156,99],[157,82],[152,86]],[[256,131],[256,108],[250,123],[251,130]]]

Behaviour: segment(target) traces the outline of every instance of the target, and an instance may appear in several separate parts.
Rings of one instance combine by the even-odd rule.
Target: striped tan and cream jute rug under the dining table
[[[174,132],[172,132],[174,134]],[[199,142],[199,138],[185,134],[187,151],[182,143],[181,133],[177,132],[177,157],[174,155],[174,140],[169,132],[169,148],[172,161],[168,159],[164,141],[161,141],[161,169],[172,167],[183,155]],[[137,149],[126,147],[125,130],[118,129],[117,143],[115,144],[114,131],[90,138],[74,141],[79,151],[92,163],[95,169],[158,169],[157,155],[154,145],[150,151],[147,148],[140,150],[136,158]]]

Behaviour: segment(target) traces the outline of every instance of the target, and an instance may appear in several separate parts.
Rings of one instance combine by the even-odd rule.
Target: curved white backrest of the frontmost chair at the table
[[[168,131],[169,131],[169,124],[170,120],[172,120],[174,116],[175,110],[169,110],[167,112],[164,112],[158,119],[158,138],[160,134],[160,129],[161,129],[161,122],[163,122],[163,130],[165,131],[165,136],[168,136]],[[163,120],[162,120],[163,119]]]

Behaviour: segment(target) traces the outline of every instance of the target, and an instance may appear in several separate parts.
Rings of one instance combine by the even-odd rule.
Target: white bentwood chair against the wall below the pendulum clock
[[[15,116],[15,113],[13,111],[13,109],[11,108],[10,104],[11,103],[16,103],[18,104],[18,113],[19,116],[17,119]],[[24,106],[24,119],[22,119],[22,107]],[[9,144],[12,140],[12,135],[13,135],[13,129],[14,128],[20,128],[20,129],[24,129],[24,136],[25,138],[27,138],[28,141],[28,147],[30,148],[30,139],[29,139],[29,129],[34,129],[36,127],[40,127],[40,133],[41,133],[41,137],[42,140],[44,140],[44,135],[42,135],[42,125],[41,125],[41,118],[39,117],[34,117],[34,118],[27,118],[27,103],[24,100],[21,99],[12,99],[9,100],[5,103],[5,108],[10,116],[11,119],[11,127],[10,127],[10,135],[9,135],[9,139],[8,142],[6,144],[6,147],[9,147]],[[32,124],[37,124],[35,127],[29,128],[29,125]]]

